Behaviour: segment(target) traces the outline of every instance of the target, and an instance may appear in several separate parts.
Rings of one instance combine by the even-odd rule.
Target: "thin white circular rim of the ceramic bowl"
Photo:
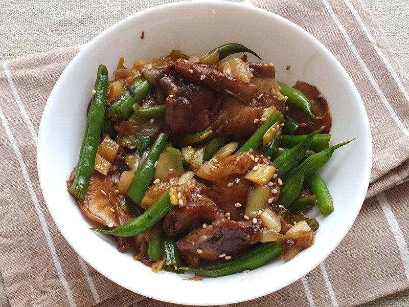
[[[367,188],[364,190],[362,188],[362,190],[360,191],[359,195],[356,196],[356,199],[359,200],[358,204],[356,205],[355,211],[353,212],[353,218],[351,218],[350,223],[347,225],[348,227],[345,228],[345,231],[343,232],[343,235],[340,236],[340,239],[334,241],[333,243],[333,247],[328,249],[327,253],[322,253],[320,254],[316,260],[314,261],[314,265],[313,266],[309,266],[309,268],[307,270],[304,270],[302,272],[302,275],[300,276],[294,276],[293,278],[289,278],[288,282],[284,282],[283,284],[280,284],[280,287],[277,288],[276,290],[272,291],[271,290],[264,290],[264,291],[260,291],[257,292],[257,294],[248,294],[248,296],[246,298],[240,298],[239,300],[237,299],[229,299],[228,297],[226,297],[224,300],[219,301],[217,303],[212,303],[212,305],[219,305],[219,304],[230,304],[230,303],[238,303],[238,302],[243,302],[243,301],[247,301],[247,300],[252,300],[255,298],[259,298],[262,296],[265,296],[267,294],[273,293],[279,289],[282,289],[286,286],[288,286],[289,284],[293,283],[294,281],[300,279],[301,277],[305,276],[306,274],[308,274],[310,271],[312,271],[315,267],[317,267],[322,261],[324,261],[325,258],[328,257],[328,255],[330,253],[333,252],[333,250],[339,245],[339,243],[341,242],[341,240],[346,236],[346,234],[348,233],[348,231],[350,230],[350,228],[352,227],[353,223],[356,220],[356,217],[362,207],[363,201],[365,201],[365,195],[367,193],[367,189],[369,186],[369,182],[370,182],[370,174],[371,174],[371,167],[372,167],[372,136],[371,136],[371,130],[370,130],[370,124],[369,124],[369,119],[368,119],[368,114],[366,112],[365,106],[363,104],[363,101],[359,95],[358,90],[356,89],[355,84],[353,83],[351,77],[349,76],[349,74],[347,73],[347,71],[344,69],[344,67],[342,66],[342,64],[340,64],[340,62],[337,60],[337,58],[328,50],[327,47],[325,47],[323,45],[323,43],[321,41],[319,41],[317,38],[315,38],[312,34],[310,34],[308,31],[306,31],[305,29],[303,29],[302,27],[298,26],[297,24],[294,24],[292,21],[276,14],[276,13],[272,13],[269,12],[267,10],[261,9],[259,7],[254,6],[251,3],[248,3],[247,1],[241,2],[241,3],[234,3],[234,2],[228,2],[228,1],[220,1],[220,0],[197,0],[194,2],[191,1],[181,1],[181,2],[174,2],[174,3],[168,3],[168,4],[163,4],[163,5],[158,5],[158,6],[154,6],[145,10],[141,10],[139,12],[133,13],[123,19],[121,19],[120,21],[118,21],[117,23],[109,26],[107,29],[105,29],[104,31],[102,31],[100,34],[98,34],[96,37],[94,37],[92,40],[90,40],[88,43],[86,43],[85,45],[82,45],[80,47],[80,51],[77,53],[77,55],[75,55],[75,57],[70,61],[70,63],[67,65],[67,67],[63,70],[63,72],[61,73],[60,77],[58,78],[58,80],[56,81],[53,90],[50,93],[50,96],[46,102],[46,105],[44,106],[44,110],[41,116],[41,121],[40,121],[40,125],[39,125],[39,130],[38,130],[38,144],[37,144],[37,151],[36,151],[36,156],[37,156],[37,172],[38,172],[38,178],[39,178],[39,183],[40,183],[40,187],[41,187],[41,192],[44,198],[44,201],[46,202],[47,208],[49,209],[49,212],[51,214],[51,216],[53,217],[53,221],[56,224],[57,228],[59,229],[59,231],[61,232],[61,234],[63,235],[63,237],[65,238],[65,240],[67,240],[67,242],[70,244],[70,246],[75,250],[75,252],[81,256],[82,259],[84,259],[90,266],[92,266],[95,270],[97,270],[99,273],[101,273],[103,276],[105,276],[106,278],[112,280],[113,282],[119,284],[120,286],[124,287],[125,289],[128,289],[132,292],[135,293],[139,293],[143,296],[149,297],[149,298],[153,298],[153,299],[157,299],[157,300],[162,300],[165,302],[170,302],[170,303],[176,303],[176,304],[194,304],[194,305],[209,305],[208,302],[206,303],[198,303],[198,302],[191,302],[188,300],[184,300],[183,298],[179,298],[177,301],[175,299],[169,299],[167,297],[161,297],[160,293],[158,294],[158,292],[155,291],[138,291],[136,292],[133,289],[130,289],[127,284],[124,284],[123,282],[121,282],[121,280],[118,280],[117,278],[111,278],[106,276],[103,273],[103,270],[101,268],[95,268],[92,265],[92,258],[89,258],[86,254],[84,254],[81,250],[77,250],[77,248],[75,247],[75,244],[71,243],[71,240],[69,238],[69,236],[66,235],[65,231],[63,229],[60,228],[60,226],[56,223],[56,219],[55,216],[53,215],[53,210],[51,210],[52,205],[50,202],[50,198],[47,196],[47,184],[45,182],[44,176],[43,176],[43,171],[41,169],[41,165],[40,165],[40,161],[39,161],[39,156],[41,155],[41,136],[44,134],[44,130],[46,129],[44,126],[46,125],[44,122],[46,121],[44,118],[47,118],[47,116],[49,115],[49,109],[50,109],[50,105],[52,104],[52,100],[54,100],[54,96],[55,96],[55,92],[56,92],[56,85],[59,84],[60,80],[63,78],[63,76],[66,74],[67,71],[69,71],[71,69],[71,67],[76,65],[76,62],[82,57],[83,53],[86,52],[86,50],[88,48],[90,48],[90,46],[93,45],[94,42],[99,41],[101,39],[103,39],[103,37],[108,34],[112,29],[116,29],[116,28],[120,28],[122,27],[122,25],[128,23],[128,21],[134,19],[134,18],[138,18],[138,16],[143,15],[143,14],[150,14],[150,13],[154,13],[155,11],[160,11],[160,10],[166,10],[168,8],[171,7],[178,7],[178,6],[186,6],[186,5],[208,5],[208,6],[232,6],[232,7],[238,7],[238,8],[245,8],[246,10],[251,10],[257,13],[261,13],[261,14],[265,14],[268,16],[268,18],[276,18],[278,19],[280,22],[284,23],[286,26],[288,27],[292,27],[297,31],[301,31],[304,35],[307,36],[308,39],[311,39],[314,41],[315,44],[319,45],[320,48],[322,49],[322,51],[324,51],[330,58],[332,58],[332,60],[334,60],[335,65],[337,66],[337,68],[339,69],[339,72],[342,73],[344,75],[344,77],[346,78],[346,80],[348,80],[348,82],[350,83],[349,86],[351,87],[351,90],[353,91],[353,96],[356,97],[356,103],[358,105],[359,111],[362,114],[363,118],[365,119],[365,122],[363,122],[363,132],[365,133],[366,137],[367,137],[367,148],[366,152],[367,152],[367,159],[366,159],[366,163],[364,163],[362,165],[362,169],[365,170],[365,182],[362,183],[362,186],[366,186]],[[172,297],[173,298],[173,297]]]

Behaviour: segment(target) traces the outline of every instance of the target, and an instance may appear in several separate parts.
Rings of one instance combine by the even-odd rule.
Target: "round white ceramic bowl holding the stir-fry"
[[[142,31],[145,38],[140,39]],[[335,151],[320,171],[331,191],[335,211],[313,211],[320,229],[315,244],[289,262],[276,259],[248,274],[184,280],[193,274],[152,273],[116,242],[89,230],[89,223],[67,193],[65,181],[77,164],[98,64],[110,74],[121,56],[125,64],[169,54],[204,54],[226,42],[239,42],[274,62],[277,79],[304,80],[327,98],[333,118],[331,143],[356,138]],[[255,60],[254,57],[249,57]],[[286,72],[285,67],[291,65]],[[371,133],[362,100],[336,58],[312,35],[278,15],[228,2],[180,2],[129,16],[93,39],[61,74],[41,119],[37,164],[44,199],[61,233],[75,251],[100,273],[142,295],[180,304],[228,304],[281,289],[320,264],[344,238],[361,208],[372,161]],[[112,259],[115,266],[112,266]],[[274,276],[280,276],[275,278]]]

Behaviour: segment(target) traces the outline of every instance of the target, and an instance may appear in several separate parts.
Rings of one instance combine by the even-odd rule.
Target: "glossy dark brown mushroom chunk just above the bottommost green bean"
[[[204,229],[195,229],[176,243],[189,266],[197,267],[200,259],[230,259],[245,252],[251,243],[250,222],[221,218]]]

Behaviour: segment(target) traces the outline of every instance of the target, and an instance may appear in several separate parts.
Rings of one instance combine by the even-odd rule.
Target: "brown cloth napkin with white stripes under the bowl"
[[[358,0],[254,4],[312,33],[344,65],[370,119],[373,168],[355,224],[322,264],[276,293],[231,306],[352,306],[408,288],[407,75]],[[88,266],[62,237],[42,198],[38,126],[54,83],[78,51],[63,48],[0,66],[0,305],[168,307]]]

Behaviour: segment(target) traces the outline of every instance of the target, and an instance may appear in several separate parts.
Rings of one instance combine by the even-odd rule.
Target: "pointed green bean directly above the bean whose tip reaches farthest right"
[[[311,144],[312,139],[317,135],[321,130],[316,130],[310,135],[308,135],[300,144],[292,147],[289,150],[281,153],[276,159],[272,162],[277,167],[277,173],[280,177],[285,177],[291,170],[296,167],[301,159],[304,157],[305,152]]]

